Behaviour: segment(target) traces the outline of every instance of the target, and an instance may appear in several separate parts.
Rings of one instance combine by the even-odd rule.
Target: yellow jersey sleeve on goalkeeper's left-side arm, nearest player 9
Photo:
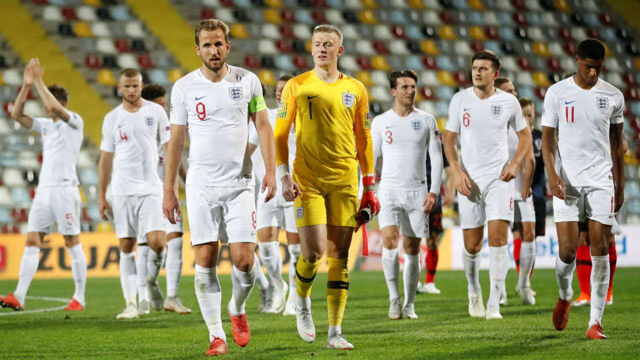
[[[296,104],[298,86],[293,79],[287,81],[282,90],[282,98],[276,115],[274,136],[276,142],[276,166],[289,165],[289,131],[296,119],[298,104]]]

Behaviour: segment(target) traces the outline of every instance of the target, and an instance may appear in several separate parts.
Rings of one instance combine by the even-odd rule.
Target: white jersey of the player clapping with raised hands
[[[84,137],[84,122],[80,115],[67,110],[69,121],[45,117],[33,118],[31,131],[42,136],[42,168],[38,188],[78,186],[76,164]]]

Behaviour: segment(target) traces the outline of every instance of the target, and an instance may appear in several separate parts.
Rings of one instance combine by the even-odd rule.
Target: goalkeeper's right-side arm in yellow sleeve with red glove
[[[361,85],[362,86],[362,85]],[[362,170],[362,200],[360,200],[360,210],[369,208],[371,215],[376,215],[380,211],[380,200],[376,195],[376,178],[374,176],[373,143],[371,141],[371,117],[369,115],[369,98],[367,90],[360,88],[360,100],[356,104],[355,119],[353,124],[353,135],[356,140],[356,157]]]

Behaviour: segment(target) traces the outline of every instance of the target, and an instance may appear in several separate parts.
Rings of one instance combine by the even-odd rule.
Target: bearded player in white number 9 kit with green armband
[[[209,329],[207,355],[227,353],[220,319],[221,291],[216,267],[218,239],[229,245],[233,261],[232,297],[227,306],[234,340],[246,347],[251,338],[244,304],[257,273],[255,257],[255,197],[248,121],[255,122],[266,174],[265,201],[275,193],[275,151],[260,81],[252,72],[225,63],[230,50],[229,28],[218,19],[202,20],[195,29],[195,50],[203,65],[173,85],[171,140],[164,177],[164,215],[175,222],[180,214],[175,178],[189,127],[189,169],[186,197],[195,249],[195,293]]]

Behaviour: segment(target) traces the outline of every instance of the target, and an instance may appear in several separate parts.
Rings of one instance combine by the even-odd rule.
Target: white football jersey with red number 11
[[[545,95],[542,126],[557,129],[556,171],[572,186],[612,186],[609,126],[624,121],[625,99],[598,79],[580,88],[573,76],[551,85]]]

